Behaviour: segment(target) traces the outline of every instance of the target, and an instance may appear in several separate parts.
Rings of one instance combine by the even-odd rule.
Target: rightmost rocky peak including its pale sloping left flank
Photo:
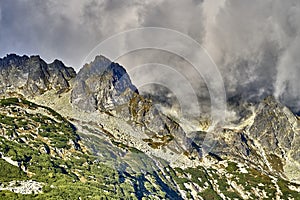
[[[299,181],[299,119],[272,96],[248,111],[215,138],[213,153]]]

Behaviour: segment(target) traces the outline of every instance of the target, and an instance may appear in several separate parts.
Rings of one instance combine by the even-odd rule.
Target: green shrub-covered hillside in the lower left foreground
[[[0,182],[34,180],[45,183],[43,193],[16,194],[0,191],[0,199],[141,199],[150,194],[166,198],[167,191],[177,191],[150,175],[129,175],[101,163],[97,156],[82,151],[75,128],[55,111],[11,98],[0,100],[0,152],[20,163],[12,166],[0,159]],[[36,112],[36,111],[39,112]],[[70,141],[72,141],[70,143]],[[141,151],[112,141],[119,148],[144,155]],[[144,159],[141,156],[140,159]],[[21,168],[25,168],[27,173]],[[145,185],[148,184],[146,188]],[[149,187],[150,185],[155,186]],[[170,198],[172,197],[169,195]]]

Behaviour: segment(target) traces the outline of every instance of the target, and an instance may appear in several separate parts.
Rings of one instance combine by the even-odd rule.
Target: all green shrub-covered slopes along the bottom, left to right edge
[[[217,190],[230,199],[241,199],[231,182],[249,192],[252,199],[261,198],[254,189],[265,191],[267,199],[275,198],[276,188],[270,176],[252,168],[241,173],[235,162],[228,161],[222,173],[200,166],[173,169],[113,138],[110,143],[82,135],[86,141],[93,141],[83,146],[74,126],[50,108],[17,98],[0,100],[0,108],[1,156],[19,164],[11,165],[0,157],[0,185],[17,180],[44,183],[43,193],[0,191],[0,199],[182,199],[179,190],[192,199],[195,193],[188,187],[191,185],[200,188],[196,194],[203,199],[221,199]],[[159,148],[173,139],[172,135],[154,135],[144,141]],[[86,150],[95,146],[95,154]],[[276,156],[269,161],[273,168],[282,169]],[[163,171],[157,163],[166,166]],[[299,198],[289,184],[278,178],[282,199]]]

